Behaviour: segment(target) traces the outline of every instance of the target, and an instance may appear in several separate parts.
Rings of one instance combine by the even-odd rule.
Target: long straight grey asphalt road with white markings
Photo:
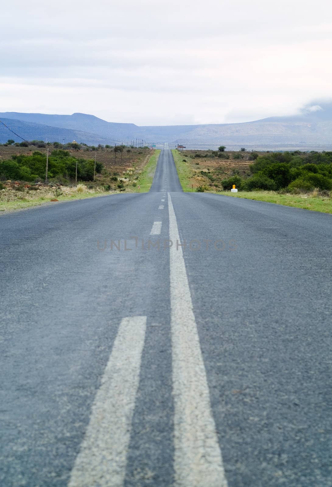
[[[168,150],[149,193],[1,215],[1,487],[332,486],[331,224]]]

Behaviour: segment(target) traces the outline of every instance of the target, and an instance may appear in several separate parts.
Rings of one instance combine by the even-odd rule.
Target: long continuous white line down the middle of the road
[[[168,193],[176,487],[227,487],[174,208]]]

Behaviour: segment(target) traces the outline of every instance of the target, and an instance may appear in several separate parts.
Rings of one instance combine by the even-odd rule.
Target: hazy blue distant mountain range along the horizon
[[[157,146],[168,142],[192,149],[332,149],[332,103],[311,105],[294,116],[269,117],[231,124],[174,125],[139,127],[130,123],[107,122],[94,115],[48,115],[44,113],[0,113],[0,119],[27,140],[127,144],[145,139]],[[20,141],[0,125],[0,142]]]

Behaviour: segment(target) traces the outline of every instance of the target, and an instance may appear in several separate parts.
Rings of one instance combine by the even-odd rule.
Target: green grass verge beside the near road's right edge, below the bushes
[[[332,199],[321,197],[300,196],[292,194],[278,194],[275,191],[221,191],[217,194],[232,196],[234,198],[246,198],[248,200],[267,201],[277,205],[293,206],[306,210],[320,211],[321,213],[332,213]]]

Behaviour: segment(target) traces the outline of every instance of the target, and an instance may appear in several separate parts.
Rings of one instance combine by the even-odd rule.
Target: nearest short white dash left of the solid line
[[[68,487],[123,487],[146,316],[123,318]]]

